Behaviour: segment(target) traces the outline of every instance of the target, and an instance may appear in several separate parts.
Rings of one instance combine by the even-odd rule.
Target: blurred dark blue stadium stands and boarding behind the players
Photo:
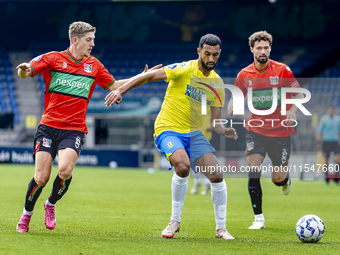
[[[196,59],[199,38],[214,33],[223,42],[216,71],[232,83],[253,61],[249,35],[267,30],[274,37],[271,58],[290,66],[312,94],[305,106],[313,116],[299,111],[290,162],[315,164],[318,119],[328,105],[340,114],[339,7],[336,0],[0,1],[0,163],[33,163],[33,136],[44,107],[42,76],[20,79],[17,64],[65,50],[69,24],[81,20],[97,27],[93,55],[117,80],[140,73],[145,64]],[[108,109],[108,91],[97,86],[78,165],[167,168],[153,142],[166,87],[165,82],[140,86]],[[213,135],[222,164],[245,164],[245,130],[236,129],[238,141]]]

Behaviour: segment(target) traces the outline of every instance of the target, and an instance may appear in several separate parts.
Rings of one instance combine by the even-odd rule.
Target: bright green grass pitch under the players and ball
[[[163,239],[171,209],[170,171],[76,167],[68,193],[56,206],[57,225],[44,225],[43,203],[57,168],[44,188],[29,233],[17,233],[34,166],[0,164],[0,254],[335,254],[340,248],[340,187],[293,180],[288,196],[262,180],[266,229],[248,230],[253,213],[247,179],[226,179],[227,228],[235,240],[215,238],[210,196],[187,194],[181,231]],[[189,178],[189,189],[193,180]],[[295,224],[305,214],[325,223],[324,237],[304,244]]]

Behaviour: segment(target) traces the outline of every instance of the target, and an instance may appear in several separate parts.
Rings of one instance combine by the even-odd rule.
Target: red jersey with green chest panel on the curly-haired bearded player
[[[287,116],[281,114],[281,88],[300,87],[288,66],[269,59],[264,69],[259,70],[254,62],[239,72],[235,86],[242,90],[244,96],[247,96],[248,89],[252,88],[252,104],[257,110],[267,110],[272,107],[273,88],[277,88],[278,100],[275,111],[269,115],[252,113],[245,122],[248,131],[269,137],[283,137],[295,133],[294,129],[284,121]],[[290,98],[290,95],[287,94],[286,98]],[[291,105],[288,105],[287,110],[290,108]]]

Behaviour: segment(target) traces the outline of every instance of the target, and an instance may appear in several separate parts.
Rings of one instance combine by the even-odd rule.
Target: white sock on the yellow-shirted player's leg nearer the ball
[[[224,182],[211,183],[211,200],[215,208],[216,230],[225,228],[227,215],[227,186]]]

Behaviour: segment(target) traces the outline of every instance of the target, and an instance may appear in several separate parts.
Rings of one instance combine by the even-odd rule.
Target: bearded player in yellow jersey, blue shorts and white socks
[[[223,81],[213,69],[221,53],[221,40],[212,34],[203,36],[197,49],[198,60],[166,66],[159,70],[138,75],[125,85],[111,92],[106,105],[120,103],[122,96],[140,84],[165,80],[169,82],[162,109],[155,122],[155,144],[175,168],[172,177],[172,215],[162,236],[174,237],[179,231],[184,198],[188,190],[190,166],[202,172],[211,181],[211,197],[215,208],[216,237],[234,239],[225,227],[227,189],[215,150],[202,134],[205,115],[201,114],[201,98],[206,96],[211,120],[221,119],[225,91],[216,88]],[[237,139],[233,128],[215,125],[215,132]],[[216,171],[205,171],[207,168]]]

